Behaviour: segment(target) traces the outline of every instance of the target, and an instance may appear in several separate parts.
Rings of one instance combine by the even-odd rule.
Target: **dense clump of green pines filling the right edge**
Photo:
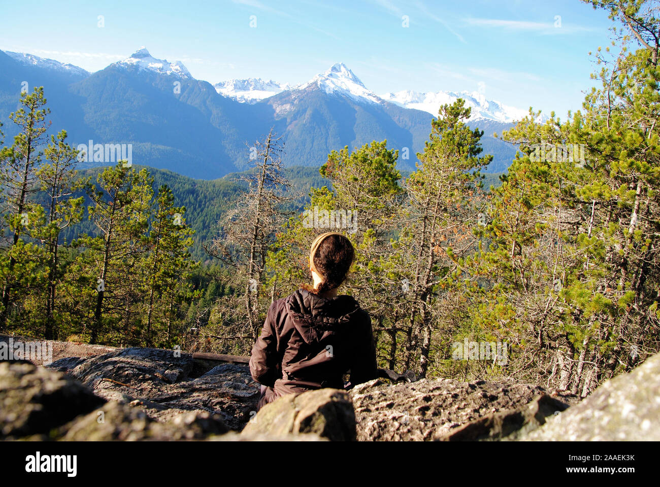
[[[618,53],[597,51],[583,111],[504,135],[522,154],[492,200],[475,313],[516,342],[523,379],[581,395],[660,347],[657,19],[648,3],[592,3],[622,20]]]

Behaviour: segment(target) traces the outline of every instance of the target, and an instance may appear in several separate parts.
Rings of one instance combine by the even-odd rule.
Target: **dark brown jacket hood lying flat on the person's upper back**
[[[306,343],[319,341],[325,333],[340,331],[362,311],[352,296],[323,298],[305,289],[286,298],[285,307]]]

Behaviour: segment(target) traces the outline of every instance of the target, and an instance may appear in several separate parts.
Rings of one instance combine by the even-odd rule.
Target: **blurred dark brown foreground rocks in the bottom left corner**
[[[0,362],[0,439],[206,439],[229,431],[218,414],[148,401],[139,408],[138,402],[106,401],[79,381],[29,362]]]

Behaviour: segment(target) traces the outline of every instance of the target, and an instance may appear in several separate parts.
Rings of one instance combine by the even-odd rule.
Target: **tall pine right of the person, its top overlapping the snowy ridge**
[[[407,368],[419,357],[420,375],[426,377],[434,330],[440,327],[434,309],[446,298],[448,279],[457,276],[457,257],[473,249],[471,229],[479,213],[469,203],[480,183],[479,170],[492,156],[482,152],[479,129],[465,121],[470,108],[462,99],[443,105],[432,121],[430,140],[418,154],[421,164],[407,179],[410,221],[406,247],[409,249],[409,327],[411,337]]]

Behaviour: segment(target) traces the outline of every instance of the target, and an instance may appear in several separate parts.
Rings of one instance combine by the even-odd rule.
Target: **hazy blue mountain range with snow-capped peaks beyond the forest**
[[[84,73],[25,65],[0,52],[0,119],[15,110],[20,82],[44,86],[55,127],[67,129],[74,145],[90,139],[130,143],[139,164],[213,179],[246,168],[246,141],[270,127],[284,136],[284,164],[320,166],[332,150],[374,140],[387,139],[388,146],[416,154],[438,116],[435,107],[417,110],[384,100],[344,63],[294,86],[267,78],[213,86],[195,79],[180,61],[156,59],[140,48],[123,61]],[[179,90],[172,81],[182,81]],[[485,100],[473,103],[486,106]],[[504,172],[515,148],[490,136],[510,124],[491,116],[474,125],[484,130],[482,146],[494,156],[487,172]],[[414,155],[399,164],[413,170]]]

